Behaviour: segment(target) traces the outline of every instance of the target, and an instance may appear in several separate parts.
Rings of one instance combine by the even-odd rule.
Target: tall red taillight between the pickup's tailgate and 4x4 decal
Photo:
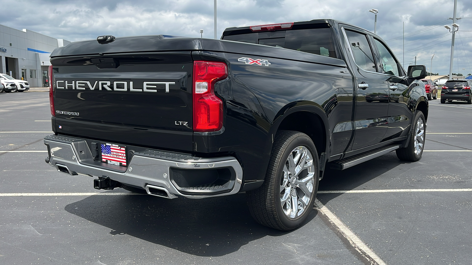
[[[194,132],[215,132],[223,126],[223,101],[214,84],[228,76],[224,63],[194,61]]]

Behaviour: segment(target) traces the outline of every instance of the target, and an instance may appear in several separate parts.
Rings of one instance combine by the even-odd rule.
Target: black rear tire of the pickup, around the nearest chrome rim
[[[282,172],[288,157],[299,147],[306,148],[312,154],[311,158],[312,165],[314,166],[314,179],[311,198],[306,205],[305,210],[299,216],[289,218],[284,212],[280,202]],[[314,200],[316,199],[319,182],[319,168],[318,153],[313,141],[308,137],[308,135],[295,131],[277,132],[274,144],[272,145],[272,152],[264,183],[260,188],[246,192],[249,211],[254,220],[262,225],[283,231],[293,230],[301,226],[310,214]],[[308,170],[306,173],[308,173]],[[288,187],[290,187],[290,181],[288,182]],[[295,184],[292,185],[292,187],[295,187]],[[300,188],[295,188],[295,192],[297,192],[296,189]],[[297,205],[298,203],[299,202],[297,201]],[[295,215],[297,214],[298,213],[295,213]]]

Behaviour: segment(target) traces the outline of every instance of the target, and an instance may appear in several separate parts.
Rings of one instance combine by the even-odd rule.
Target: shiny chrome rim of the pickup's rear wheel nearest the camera
[[[280,180],[280,205],[290,219],[303,214],[312,199],[315,166],[310,150],[299,146],[290,152]]]

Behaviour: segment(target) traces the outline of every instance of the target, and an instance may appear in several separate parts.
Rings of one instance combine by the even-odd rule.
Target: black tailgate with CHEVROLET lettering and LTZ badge
[[[190,52],[52,58],[55,131],[192,150]]]

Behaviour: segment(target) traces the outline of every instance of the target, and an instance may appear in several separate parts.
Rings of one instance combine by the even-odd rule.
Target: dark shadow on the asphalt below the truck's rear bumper
[[[247,209],[245,194],[209,199],[90,196],[68,204],[65,210],[110,228],[110,239],[127,234],[202,257],[227,255],[250,241],[288,233],[257,224]],[[317,213],[313,209],[308,222]]]

